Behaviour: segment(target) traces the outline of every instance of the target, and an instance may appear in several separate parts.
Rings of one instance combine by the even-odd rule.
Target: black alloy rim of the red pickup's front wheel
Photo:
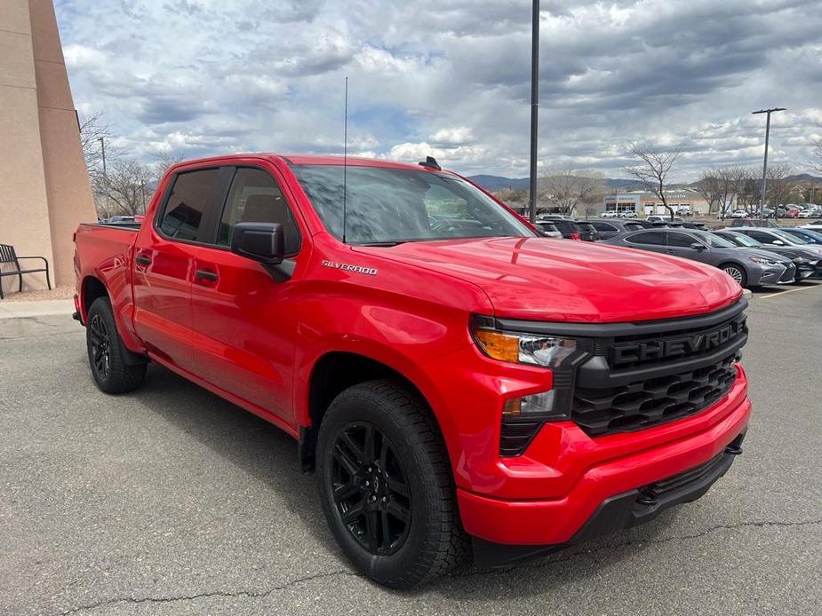
[[[348,423],[333,447],[334,504],[348,532],[371,554],[394,554],[411,528],[411,489],[395,447],[367,422]]]

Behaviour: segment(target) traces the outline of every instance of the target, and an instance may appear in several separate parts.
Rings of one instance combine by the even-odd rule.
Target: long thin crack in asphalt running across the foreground
[[[625,548],[631,545],[658,545],[662,543],[669,543],[671,541],[690,541],[692,539],[699,539],[700,537],[704,537],[708,534],[715,533],[717,531],[723,530],[737,530],[739,528],[746,528],[746,527],[754,527],[754,528],[770,528],[770,527],[791,527],[791,526],[810,526],[810,525],[820,525],[822,524],[822,519],[817,520],[802,520],[798,522],[774,522],[769,520],[764,520],[761,522],[740,522],[738,524],[721,524],[711,526],[706,528],[699,533],[693,534],[686,534],[686,535],[674,535],[672,537],[664,537],[662,539],[643,539],[643,540],[628,540],[628,541],[620,541],[614,544],[603,545],[595,549],[591,549],[588,551],[578,551],[569,554],[567,557],[564,558],[555,558],[551,559],[542,563],[536,563],[533,565],[515,565],[511,567],[505,567],[500,569],[494,569],[490,571],[477,571],[473,573],[467,573],[463,575],[456,575],[452,576],[453,578],[459,577],[474,577],[477,575],[491,575],[491,574],[499,574],[499,573],[507,573],[514,569],[541,569],[544,567],[548,567],[551,565],[557,565],[560,563],[567,562],[577,557],[588,557],[594,560],[596,563],[599,563],[599,559],[595,557],[595,554],[598,552],[602,552],[603,550],[613,550],[618,548]],[[128,603],[128,604],[145,604],[145,603],[173,603],[176,601],[193,601],[196,599],[207,598],[211,596],[223,596],[223,597],[240,597],[245,596],[249,598],[259,598],[263,596],[271,595],[278,590],[285,590],[286,588],[291,588],[292,586],[297,586],[299,584],[311,582],[314,580],[322,580],[324,578],[332,578],[332,577],[339,577],[339,576],[350,576],[354,578],[362,578],[363,576],[358,573],[353,573],[348,571],[347,569],[339,569],[338,571],[332,571],[327,573],[315,573],[314,575],[307,575],[306,577],[296,578],[294,580],[290,580],[281,584],[279,586],[273,586],[271,588],[267,588],[266,590],[237,590],[234,592],[227,591],[227,590],[212,590],[209,592],[197,593],[196,595],[186,595],[186,596],[144,596],[144,597],[133,597],[133,596],[118,596],[113,597],[110,599],[103,599],[97,601],[92,604],[85,604],[80,605],[78,607],[72,608],[66,612],[60,612],[59,616],[68,616],[68,614],[76,614],[77,612],[86,612],[90,610],[96,610],[100,607],[106,607],[111,604],[117,603]]]

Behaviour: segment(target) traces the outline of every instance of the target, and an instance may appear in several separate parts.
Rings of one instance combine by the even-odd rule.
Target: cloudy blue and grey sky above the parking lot
[[[528,0],[56,0],[81,114],[185,157],[349,153],[528,172]],[[681,144],[677,179],[822,134],[819,0],[543,0],[540,164],[620,175],[632,142]]]

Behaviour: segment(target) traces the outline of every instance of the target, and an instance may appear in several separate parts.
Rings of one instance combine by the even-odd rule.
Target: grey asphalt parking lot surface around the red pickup
[[[745,454],[705,497],[403,593],[348,567],[274,427],[156,366],[100,393],[74,323],[0,332],[0,614],[818,614],[822,285],[796,288],[754,293]]]

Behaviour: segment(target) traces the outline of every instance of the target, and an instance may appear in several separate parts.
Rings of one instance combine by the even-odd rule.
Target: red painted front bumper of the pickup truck
[[[547,425],[525,456],[500,462],[500,465],[507,464],[505,472],[514,477],[530,475],[534,479],[532,485],[543,484],[547,487],[555,482],[564,484],[567,489],[563,490],[563,494],[550,498],[540,498],[534,494],[529,499],[507,499],[458,488],[463,525],[467,533],[491,543],[530,546],[531,551],[533,546],[553,545],[556,549],[557,544],[562,546],[570,542],[604,502],[615,497],[628,498],[626,494],[635,493],[643,486],[673,478],[722,454],[745,432],[750,412],[751,403],[746,397],[744,375],[740,372],[738,382],[728,395],[697,415],[634,434],[596,439],[597,449],[611,448],[609,445],[619,442],[620,446],[613,451],[620,451],[621,454],[594,462],[581,448],[575,455],[574,452],[563,452],[565,459],[561,465],[554,467],[551,473],[554,482],[551,484],[545,483],[547,478],[544,477],[549,469],[535,463],[533,458],[529,459],[529,455],[539,456],[539,449],[547,446],[551,428],[560,429],[556,424]],[[672,436],[672,430],[676,430],[679,438],[665,438]],[[627,447],[629,439],[634,441],[633,448]],[[573,448],[573,438],[564,440],[566,446]],[[577,465],[582,468],[572,470]],[[541,467],[542,470],[533,467]],[[569,484],[571,477],[575,480]]]

